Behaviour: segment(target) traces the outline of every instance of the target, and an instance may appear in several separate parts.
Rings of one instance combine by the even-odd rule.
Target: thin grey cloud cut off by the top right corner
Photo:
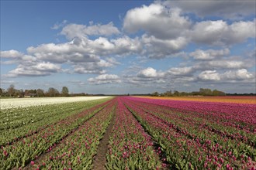
[[[199,17],[219,16],[225,19],[243,19],[255,15],[255,1],[205,0],[205,1],[166,1],[164,5],[182,8],[183,12],[195,13]]]

